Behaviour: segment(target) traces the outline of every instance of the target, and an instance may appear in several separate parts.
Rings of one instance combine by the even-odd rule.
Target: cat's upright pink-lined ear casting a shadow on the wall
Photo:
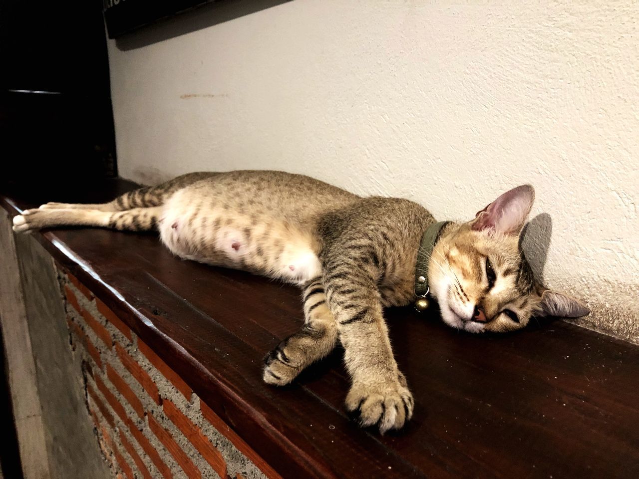
[[[512,188],[477,212],[471,222],[472,229],[519,234],[534,201],[535,190],[532,186],[521,185]]]

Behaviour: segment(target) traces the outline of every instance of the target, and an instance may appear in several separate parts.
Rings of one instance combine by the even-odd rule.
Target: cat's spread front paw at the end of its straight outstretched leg
[[[381,434],[389,429],[401,429],[412,418],[415,405],[405,379],[403,383],[399,379],[354,382],[346,396],[346,409],[355,414],[363,427],[377,425]]]

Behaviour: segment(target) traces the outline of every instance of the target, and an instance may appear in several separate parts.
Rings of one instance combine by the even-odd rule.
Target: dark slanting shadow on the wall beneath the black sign
[[[160,20],[150,26],[127,33],[116,39],[116,46],[122,51],[146,47],[289,1],[291,0],[224,0],[206,4],[194,10],[180,13],[176,17]]]

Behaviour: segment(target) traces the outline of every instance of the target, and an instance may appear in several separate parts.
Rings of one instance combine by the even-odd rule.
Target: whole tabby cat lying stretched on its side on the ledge
[[[346,407],[383,433],[413,414],[383,307],[429,292],[445,323],[472,333],[516,330],[532,316],[589,313],[535,282],[520,254],[533,201],[532,186],[518,186],[470,222],[436,224],[412,201],[362,198],[307,176],[192,173],[106,204],[43,204],[13,218],[13,229],[157,229],[181,258],[300,285],[304,326],[266,356],[264,381],[290,383],[339,339],[352,379]]]

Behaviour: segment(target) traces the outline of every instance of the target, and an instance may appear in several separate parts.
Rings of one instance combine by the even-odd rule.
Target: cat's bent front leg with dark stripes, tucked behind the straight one
[[[328,309],[320,278],[304,287],[304,327],[283,340],[265,357],[263,379],[283,386],[315,361],[333,351],[337,343],[337,324]]]

